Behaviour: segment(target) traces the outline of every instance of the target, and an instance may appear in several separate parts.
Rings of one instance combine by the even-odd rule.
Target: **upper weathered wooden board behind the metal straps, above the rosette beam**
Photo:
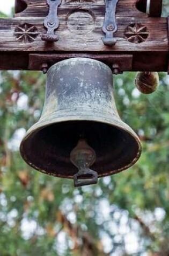
[[[19,12],[20,6],[23,2],[27,8]],[[138,0],[119,0],[116,8],[116,17],[145,17],[145,13],[137,10],[136,5]],[[21,4],[22,3],[22,4]],[[68,10],[88,9],[98,11],[101,16],[105,15],[105,1],[104,0],[62,0],[58,12],[66,14]],[[15,17],[45,17],[48,13],[48,5],[46,0],[16,0],[17,13]]]

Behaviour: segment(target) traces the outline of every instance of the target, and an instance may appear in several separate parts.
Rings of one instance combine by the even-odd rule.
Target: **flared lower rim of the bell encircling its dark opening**
[[[58,114],[58,111],[57,111],[57,114]],[[109,114],[109,115],[111,115],[111,114]],[[48,126],[51,126],[55,123],[71,122],[71,121],[91,121],[91,122],[94,121],[94,122],[98,122],[98,123],[105,123],[105,124],[108,124],[112,127],[117,128],[119,130],[123,130],[124,132],[128,133],[131,137],[134,137],[134,139],[136,140],[137,145],[138,145],[138,151],[137,151],[137,154],[135,155],[135,157],[133,158],[133,161],[131,161],[129,164],[125,165],[122,168],[119,168],[119,169],[116,169],[116,170],[106,170],[106,172],[103,173],[103,174],[98,173],[98,177],[106,177],[106,176],[109,176],[109,175],[117,174],[121,171],[124,171],[124,170],[130,168],[132,165],[134,165],[138,161],[138,159],[139,159],[139,157],[141,156],[141,153],[142,153],[142,144],[141,144],[141,141],[139,140],[139,137],[137,136],[137,134],[134,132],[134,130],[130,126],[128,126],[128,124],[124,123],[120,118],[117,119],[116,116],[111,116],[111,118],[109,118],[109,117],[105,118],[103,116],[93,117],[93,115],[92,115],[92,119],[91,119],[91,115],[89,115],[88,117],[89,118],[87,118],[87,116],[85,116],[85,119],[84,119],[84,116],[82,116],[82,111],[81,111],[79,116],[77,116],[77,113],[76,113],[76,116],[72,116],[72,115],[67,116],[67,120],[65,120],[65,116],[64,117],[56,117],[56,114],[55,114],[55,118],[53,120],[50,120],[49,122],[46,122],[46,121],[43,121],[43,119],[40,119],[30,129],[28,129],[24,139],[21,141],[20,148],[19,148],[21,156],[23,157],[23,159],[25,160],[25,162],[28,165],[30,165],[35,170],[38,170],[38,171],[42,172],[43,174],[47,174],[47,175],[54,176],[54,177],[59,177],[59,178],[73,179],[74,175],[68,176],[68,175],[64,175],[64,174],[55,174],[53,172],[50,174],[49,172],[36,167],[35,164],[31,163],[30,160],[28,160],[28,158],[26,157],[26,154],[24,154],[24,150],[23,150],[24,143],[28,139],[28,137],[31,137],[31,135],[34,132],[38,133],[40,130],[42,130],[42,129],[48,127]],[[117,123],[114,123],[114,122],[117,122]],[[120,124],[123,124],[123,125],[120,126]]]

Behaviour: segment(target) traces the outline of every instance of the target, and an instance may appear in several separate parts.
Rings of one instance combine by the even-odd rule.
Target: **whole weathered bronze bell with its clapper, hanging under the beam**
[[[50,67],[41,118],[28,130],[20,153],[34,169],[74,178],[75,186],[131,167],[141,142],[117,113],[111,69],[88,58]]]

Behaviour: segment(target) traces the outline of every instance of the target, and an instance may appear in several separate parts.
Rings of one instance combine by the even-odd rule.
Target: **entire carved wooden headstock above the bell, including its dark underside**
[[[14,18],[0,19],[0,69],[40,70],[43,60],[48,63],[49,56],[51,58],[55,53],[55,62],[67,54],[74,57],[86,55],[99,60],[106,54],[107,59],[109,56],[113,59],[115,55],[121,59],[120,65],[123,56],[128,54],[133,63],[130,67],[127,63],[123,65],[122,71],[167,71],[167,18],[149,17],[142,12],[146,9],[144,3],[119,0],[116,6],[117,31],[114,34],[117,43],[110,47],[101,40],[104,36],[101,30],[105,18],[104,0],[62,0],[58,6],[56,33],[59,40],[56,42],[42,41],[40,36],[47,31],[43,26],[49,10],[46,0],[17,0]],[[30,64],[33,54],[43,55],[36,66]],[[33,59],[35,62],[36,57]]]

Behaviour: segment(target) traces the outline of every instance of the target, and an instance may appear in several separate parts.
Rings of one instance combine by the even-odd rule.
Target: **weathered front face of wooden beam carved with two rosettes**
[[[82,15],[82,13],[78,13]],[[117,18],[118,30],[115,33],[117,43],[113,47],[102,43],[101,25],[103,18],[95,17],[95,22],[87,24],[87,17],[69,22],[60,17],[60,27],[57,34],[60,40],[57,42],[44,42],[40,34],[45,33],[43,19],[40,18],[13,18],[0,19],[0,52],[10,51],[86,51],[86,52],[168,52],[167,18]],[[135,24],[139,24],[136,27]],[[128,38],[128,27],[133,26],[135,30],[132,37],[142,37],[142,41],[131,42]],[[144,38],[144,30],[147,38]]]

